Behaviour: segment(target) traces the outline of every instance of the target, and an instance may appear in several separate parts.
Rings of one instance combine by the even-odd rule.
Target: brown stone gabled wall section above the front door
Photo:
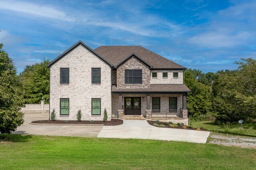
[[[142,69],[142,84],[125,84],[124,70],[126,69]],[[137,57],[130,57],[117,68],[116,72],[117,88],[148,88],[150,86],[150,68]]]

